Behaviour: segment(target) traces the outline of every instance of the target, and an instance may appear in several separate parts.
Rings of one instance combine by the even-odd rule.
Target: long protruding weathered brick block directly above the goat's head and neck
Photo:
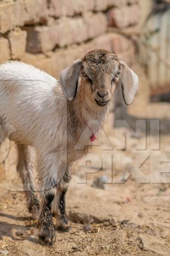
[[[28,33],[26,51],[39,53],[52,50],[56,46],[82,43],[103,34],[107,30],[107,19],[102,13],[88,13],[84,18],[62,17],[52,26],[26,26],[25,29]]]

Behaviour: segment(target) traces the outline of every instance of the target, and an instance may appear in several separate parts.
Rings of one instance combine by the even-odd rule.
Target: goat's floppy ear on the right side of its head
[[[120,75],[120,82],[122,85],[123,99],[126,105],[130,105],[133,102],[134,96],[138,89],[138,76],[129,67],[127,67],[124,61],[120,62],[122,66],[122,72]]]

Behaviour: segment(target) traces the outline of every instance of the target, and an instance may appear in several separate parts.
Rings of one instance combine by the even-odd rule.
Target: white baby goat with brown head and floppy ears
[[[119,79],[125,103],[130,105],[138,76],[106,50],[93,50],[74,61],[62,71],[60,82],[18,61],[0,65],[0,145],[6,137],[17,144],[17,171],[34,217],[40,204],[34,189],[30,146],[36,150],[42,198],[39,239],[45,245],[55,240],[51,211],[57,218],[57,229],[69,229],[65,216],[68,167],[88,152],[103,127]]]

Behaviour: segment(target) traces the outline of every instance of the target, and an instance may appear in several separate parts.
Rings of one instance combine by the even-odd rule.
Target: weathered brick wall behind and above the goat
[[[0,0],[0,63],[20,60],[58,79],[72,61],[104,48],[132,66],[135,47],[119,32],[138,25],[138,2]],[[10,165],[1,164],[1,174],[5,166]]]

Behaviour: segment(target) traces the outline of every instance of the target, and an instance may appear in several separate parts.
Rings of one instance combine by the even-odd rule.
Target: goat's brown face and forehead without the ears
[[[82,59],[81,78],[85,93],[97,105],[106,105],[115,90],[122,68],[113,53],[99,49],[88,52]]]

